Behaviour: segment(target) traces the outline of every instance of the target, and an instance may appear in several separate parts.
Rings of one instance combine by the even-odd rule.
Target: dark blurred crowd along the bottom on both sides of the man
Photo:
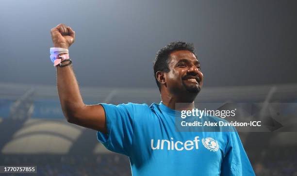
[[[260,154],[251,151],[248,154],[254,161],[256,176],[297,176],[296,147],[268,148]],[[4,155],[0,161],[0,165],[37,165],[37,176],[131,176],[128,157],[114,153],[94,156]]]

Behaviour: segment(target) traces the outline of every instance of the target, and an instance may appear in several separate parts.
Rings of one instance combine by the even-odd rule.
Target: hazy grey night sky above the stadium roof
[[[167,43],[194,43],[204,86],[297,83],[295,0],[1,0],[0,82],[56,84],[50,29],[71,26],[81,86],[156,87]]]

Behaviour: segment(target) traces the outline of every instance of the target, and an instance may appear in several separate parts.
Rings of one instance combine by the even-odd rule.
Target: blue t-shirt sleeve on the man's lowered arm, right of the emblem
[[[230,139],[222,160],[221,176],[255,176],[237,131],[234,128],[234,131],[228,133]]]

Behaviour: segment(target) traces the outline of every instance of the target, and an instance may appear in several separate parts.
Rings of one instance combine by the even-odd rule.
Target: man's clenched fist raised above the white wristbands
[[[68,49],[75,39],[75,32],[65,24],[59,24],[52,28],[50,34],[54,47],[57,48]]]

